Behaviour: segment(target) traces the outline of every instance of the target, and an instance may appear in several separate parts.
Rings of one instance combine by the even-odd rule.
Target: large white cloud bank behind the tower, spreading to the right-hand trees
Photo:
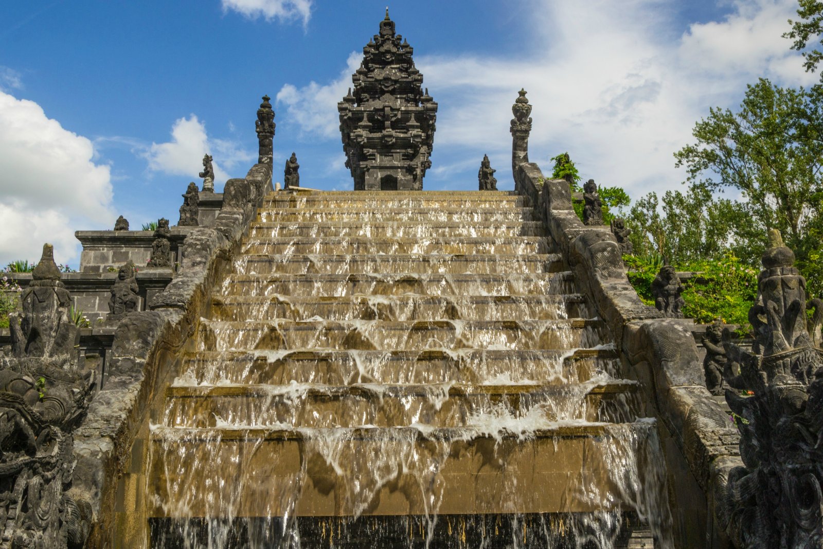
[[[781,37],[795,0],[723,2],[727,16],[681,32],[671,0],[536,0],[523,49],[506,57],[416,56],[424,86],[439,103],[428,188],[473,186],[484,153],[508,174],[511,105],[525,87],[534,105],[529,157],[544,171],[569,151],[581,174],[621,185],[639,198],[681,188],[672,153],[692,140],[710,106],[736,108],[746,84],[769,77],[784,86],[816,81]],[[327,85],[283,86],[288,117],[315,137],[339,138],[336,103],[351,86],[360,55]],[[443,169],[439,169],[441,166]],[[461,166],[468,166],[461,170]]]

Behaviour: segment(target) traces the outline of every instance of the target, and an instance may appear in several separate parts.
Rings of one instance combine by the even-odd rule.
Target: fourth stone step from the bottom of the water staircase
[[[601,320],[382,320],[221,322],[203,319],[199,351],[264,349],[570,349],[593,347],[606,337]]]

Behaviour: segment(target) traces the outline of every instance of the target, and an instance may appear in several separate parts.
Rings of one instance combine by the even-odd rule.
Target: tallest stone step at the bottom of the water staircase
[[[646,458],[654,428],[649,420],[532,417],[478,418],[467,428],[156,427],[148,514],[220,519],[631,509],[650,499],[638,496],[644,483],[631,473]]]

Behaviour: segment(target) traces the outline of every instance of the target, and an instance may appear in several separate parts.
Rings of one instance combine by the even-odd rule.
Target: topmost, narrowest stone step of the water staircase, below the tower
[[[269,195],[263,201],[263,208],[304,208],[304,207],[421,207],[421,208],[495,208],[528,207],[528,198],[510,195],[478,194],[477,197],[466,195],[382,195],[365,196],[295,196]]]

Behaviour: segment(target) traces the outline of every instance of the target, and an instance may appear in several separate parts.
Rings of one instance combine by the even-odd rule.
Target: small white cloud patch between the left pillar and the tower
[[[337,118],[337,102],[351,87],[351,74],[360,67],[363,54],[351,52],[346,68],[337,77],[325,86],[315,81],[308,86],[297,88],[286,84],[277,92],[277,103],[285,103],[287,108],[286,119],[300,126],[303,134],[316,134],[326,138],[340,136],[340,122]]]

